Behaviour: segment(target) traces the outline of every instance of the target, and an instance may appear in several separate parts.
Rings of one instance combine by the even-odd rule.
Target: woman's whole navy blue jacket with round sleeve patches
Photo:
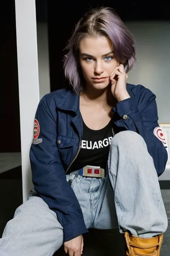
[[[131,130],[143,137],[160,176],[165,170],[167,150],[154,135],[159,126],[156,96],[142,85],[127,84],[127,91],[131,98],[118,102],[112,109],[118,117],[115,127],[117,132]],[[128,116],[126,120],[124,114]],[[83,133],[79,96],[66,89],[49,93],[40,100],[35,118],[30,148],[34,188],[56,212],[63,226],[64,241],[69,241],[88,232],[79,202],[66,181],[66,172],[77,156]]]

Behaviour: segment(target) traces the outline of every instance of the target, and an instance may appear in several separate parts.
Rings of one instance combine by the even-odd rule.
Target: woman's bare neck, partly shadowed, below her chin
[[[86,86],[82,95],[83,98],[90,104],[100,105],[100,106],[115,106],[117,100],[111,92],[111,85],[103,90],[97,90],[91,86]]]

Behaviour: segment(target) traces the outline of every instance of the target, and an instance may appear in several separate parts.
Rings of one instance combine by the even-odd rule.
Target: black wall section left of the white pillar
[[[1,5],[0,24],[0,152],[19,152],[20,122],[15,1],[4,1]]]

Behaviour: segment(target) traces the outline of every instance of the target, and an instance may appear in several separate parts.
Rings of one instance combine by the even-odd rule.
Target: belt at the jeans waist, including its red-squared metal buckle
[[[86,165],[80,170],[73,171],[71,174],[77,174],[86,177],[104,178],[106,176],[105,170],[98,166]]]

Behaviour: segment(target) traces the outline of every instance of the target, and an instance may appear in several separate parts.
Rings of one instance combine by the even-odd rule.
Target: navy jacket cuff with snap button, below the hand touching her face
[[[133,98],[128,98],[118,102],[116,106],[112,108],[112,111],[115,113],[117,112],[118,115],[122,118],[124,115],[138,112],[138,107],[136,101]]]

